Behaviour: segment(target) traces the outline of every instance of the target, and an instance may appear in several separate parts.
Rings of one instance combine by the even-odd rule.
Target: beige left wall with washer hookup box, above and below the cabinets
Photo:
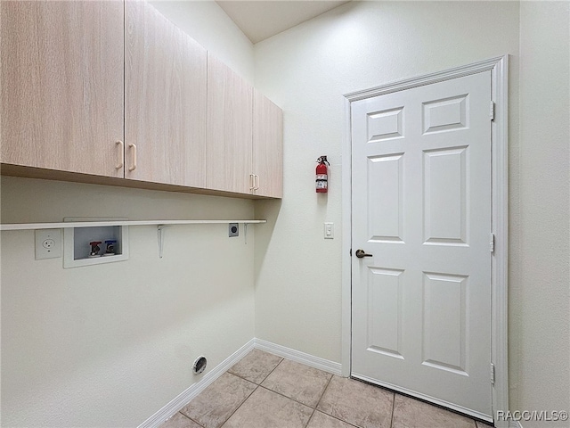
[[[159,4],[253,79],[253,47],[214,2]],[[237,35],[237,36],[236,36]],[[232,198],[2,177],[2,222],[252,218]],[[2,232],[2,426],[136,426],[254,337],[254,237],[227,225],[130,227],[130,259],[63,269],[34,232]]]

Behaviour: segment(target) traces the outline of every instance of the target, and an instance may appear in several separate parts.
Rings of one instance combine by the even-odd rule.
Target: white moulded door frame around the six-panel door
[[[460,78],[491,71],[491,99],[494,119],[491,122],[492,138],[492,227],[494,251],[491,268],[491,362],[494,365],[493,416],[497,411],[509,410],[509,383],[507,359],[507,275],[508,275],[508,55],[476,62],[452,70],[409,78],[387,85],[346,94],[345,141],[342,151],[342,375],[351,373],[351,300],[352,300],[352,137],[351,103],[378,95],[386,95],[417,86],[425,86],[452,78]],[[491,111],[490,111],[491,114]],[[492,375],[491,373],[489,374]],[[509,426],[498,421],[497,428]]]

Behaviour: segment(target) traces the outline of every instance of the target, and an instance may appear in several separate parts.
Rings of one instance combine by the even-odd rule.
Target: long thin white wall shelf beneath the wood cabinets
[[[66,227],[99,227],[99,226],[175,226],[175,225],[212,225],[224,223],[241,223],[256,225],[267,223],[267,220],[117,220],[117,221],[74,221],[61,223],[12,223],[0,225],[4,230],[36,230],[59,229]]]

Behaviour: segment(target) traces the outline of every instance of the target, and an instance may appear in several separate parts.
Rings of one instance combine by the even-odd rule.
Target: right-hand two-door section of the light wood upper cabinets
[[[209,189],[282,197],[283,114],[208,54]]]

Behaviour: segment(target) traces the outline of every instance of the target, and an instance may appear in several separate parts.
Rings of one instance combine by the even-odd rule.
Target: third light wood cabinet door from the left
[[[208,189],[251,193],[253,87],[208,53]]]

